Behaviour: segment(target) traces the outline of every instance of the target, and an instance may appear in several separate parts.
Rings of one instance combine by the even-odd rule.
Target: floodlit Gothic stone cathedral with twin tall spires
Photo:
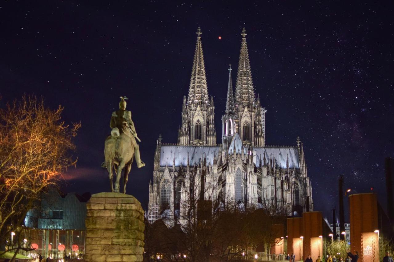
[[[253,87],[243,29],[235,94],[231,66],[226,108],[221,116],[222,143],[216,144],[214,100],[208,96],[201,30],[193,59],[188,96],[182,104],[182,122],[176,144],[162,143],[154,154],[149,183],[147,218],[170,224],[187,214],[191,197],[220,204],[264,203],[286,210],[289,216],[313,211],[312,186],[303,144],[266,145],[266,109]]]

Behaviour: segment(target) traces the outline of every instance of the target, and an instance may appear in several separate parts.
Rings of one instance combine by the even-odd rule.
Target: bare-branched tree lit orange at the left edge
[[[23,96],[0,109],[0,239],[17,229],[43,190],[74,166],[72,137],[80,124],[61,120],[63,107]],[[17,252],[15,252],[17,253]]]

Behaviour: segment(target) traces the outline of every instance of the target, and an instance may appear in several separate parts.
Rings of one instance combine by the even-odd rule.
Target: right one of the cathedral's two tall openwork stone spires
[[[238,73],[236,82],[236,103],[237,107],[242,110],[242,107],[253,106],[255,102],[255,90],[253,88],[252,72],[249,62],[249,54],[246,44],[246,31],[242,30],[242,42],[240,51],[240,61],[238,63]]]

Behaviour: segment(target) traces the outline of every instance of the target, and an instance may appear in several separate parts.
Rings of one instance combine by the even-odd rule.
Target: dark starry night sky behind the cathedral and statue
[[[89,3],[87,3],[89,2]],[[102,2],[102,3],[100,3]],[[256,4],[254,2],[260,2]],[[39,4],[38,4],[39,3]],[[65,192],[109,189],[104,139],[127,96],[142,160],[128,194],[144,207],[156,139],[176,143],[198,26],[217,142],[228,65],[236,80],[245,26],[256,94],[266,107],[266,144],[304,144],[315,210],[338,208],[345,189],[373,187],[385,207],[384,158],[394,157],[393,1],[2,1],[0,106],[22,94],[65,106],[81,122],[77,168]],[[219,39],[221,36],[221,39]],[[346,209],[348,203],[345,203]],[[347,213],[347,211],[346,211]]]

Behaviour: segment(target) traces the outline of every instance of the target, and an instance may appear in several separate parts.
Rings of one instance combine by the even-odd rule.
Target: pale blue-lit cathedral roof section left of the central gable
[[[161,146],[160,166],[190,166],[199,164],[206,157],[206,164],[214,163],[214,156],[219,156],[219,146]]]

